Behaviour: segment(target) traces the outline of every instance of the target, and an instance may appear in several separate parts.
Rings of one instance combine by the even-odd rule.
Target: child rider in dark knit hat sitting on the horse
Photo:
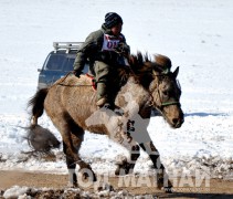
[[[124,55],[130,52],[125,36],[121,34],[123,19],[115,12],[105,15],[102,28],[92,32],[77,51],[74,62],[74,74],[80,77],[86,61],[89,62],[89,70],[94,74],[97,83],[98,107],[112,106],[107,90],[112,78],[110,73],[117,64],[124,64]]]

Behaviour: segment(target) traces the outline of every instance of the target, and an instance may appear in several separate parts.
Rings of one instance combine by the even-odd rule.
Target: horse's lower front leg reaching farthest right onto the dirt
[[[148,134],[148,133],[147,133]],[[150,157],[153,167],[157,174],[157,185],[159,188],[165,188],[166,191],[170,192],[172,188],[172,184],[168,178],[168,174],[166,172],[166,168],[160,160],[160,155],[158,149],[155,147],[152,140],[141,143],[140,147],[148,154]]]

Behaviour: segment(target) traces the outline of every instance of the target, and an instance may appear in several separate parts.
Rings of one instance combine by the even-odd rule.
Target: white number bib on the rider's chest
[[[118,38],[109,34],[104,34],[104,42],[102,46],[102,51],[113,51],[115,48],[118,46],[118,43],[123,41],[123,36],[119,35]]]

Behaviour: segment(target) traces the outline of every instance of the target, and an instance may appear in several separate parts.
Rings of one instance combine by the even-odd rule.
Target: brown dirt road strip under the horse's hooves
[[[151,195],[153,198],[233,198],[233,181],[222,179],[211,179],[210,187],[206,187],[204,182],[198,188],[174,187],[176,192],[173,193],[165,193],[156,187],[148,187],[148,184],[141,186],[136,184],[135,186],[126,187],[118,177],[110,177],[109,184],[116,191],[126,190],[131,195]],[[67,175],[0,171],[0,190],[2,192],[15,185],[35,188],[46,187],[61,191],[67,185]],[[84,188],[84,190],[95,192],[93,186]]]

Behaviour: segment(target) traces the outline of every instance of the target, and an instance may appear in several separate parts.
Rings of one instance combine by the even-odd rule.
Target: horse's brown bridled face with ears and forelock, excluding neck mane
[[[149,92],[153,107],[162,114],[171,127],[179,128],[184,122],[180,105],[181,87],[177,81],[179,67],[171,72],[170,60],[167,56],[163,56],[163,59],[165,62],[162,63],[166,64],[156,62],[152,69],[153,78],[150,83]]]

